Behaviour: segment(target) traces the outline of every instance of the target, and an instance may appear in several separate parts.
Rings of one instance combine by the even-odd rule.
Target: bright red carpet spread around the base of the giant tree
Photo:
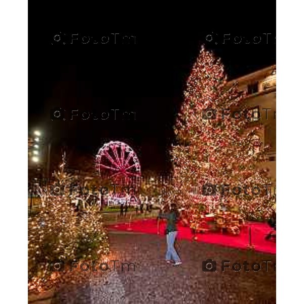
[[[256,251],[276,254],[276,243],[274,241],[266,241],[265,236],[271,231],[266,223],[247,222],[241,229],[238,236],[220,234],[218,232],[207,232],[205,234],[197,234],[198,242],[218,244],[222,246],[246,249],[249,243],[249,226],[251,227],[251,243]],[[160,223],[160,235],[164,236],[166,222]],[[118,223],[109,225],[109,230],[133,231],[147,234],[157,234],[157,220],[143,219],[129,223]],[[193,234],[188,227],[178,226],[177,239],[192,240]]]

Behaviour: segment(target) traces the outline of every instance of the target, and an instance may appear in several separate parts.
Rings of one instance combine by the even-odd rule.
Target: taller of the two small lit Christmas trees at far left
[[[57,183],[63,184],[66,178],[65,154],[60,164],[60,171],[55,175]],[[28,218],[28,281],[29,289],[42,290],[46,287],[53,273],[51,263],[56,260],[74,258],[77,248],[77,216],[68,197],[42,194],[42,210]]]

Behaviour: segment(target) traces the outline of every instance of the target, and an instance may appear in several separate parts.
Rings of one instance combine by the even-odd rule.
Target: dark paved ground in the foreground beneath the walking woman
[[[164,261],[165,238],[126,232],[110,232],[111,259],[117,271],[107,271],[81,288],[65,288],[55,294],[52,303],[275,303],[275,255],[261,254],[212,244],[180,240],[176,244],[183,261],[173,267]],[[202,271],[202,261],[217,261],[217,272]],[[230,268],[221,271],[221,260],[230,260]],[[244,271],[247,260],[249,272]],[[269,260],[268,271],[266,263]],[[122,262],[133,262],[135,272],[121,270]],[[232,265],[242,264],[235,272]],[[258,272],[251,270],[259,262]],[[113,268],[113,262],[109,262]],[[256,266],[257,267],[257,266]]]

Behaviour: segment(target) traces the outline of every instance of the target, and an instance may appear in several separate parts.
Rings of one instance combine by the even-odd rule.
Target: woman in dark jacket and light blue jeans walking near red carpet
[[[177,210],[176,204],[171,204],[171,208],[168,210],[164,209],[164,213],[160,213],[159,218],[167,219],[166,235],[167,235],[167,253],[166,262],[170,263],[173,260],[173,266],[181,264],[181,260],[174,248],[174,242],[177,235],[176,222],[179,217],[179,212]]]

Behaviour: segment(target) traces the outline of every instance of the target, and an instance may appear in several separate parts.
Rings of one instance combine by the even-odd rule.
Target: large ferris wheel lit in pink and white
[[[140,164],[134,150],[122,141],[105,143],[96,155],[98,174],[120,184],[140,182]]]

